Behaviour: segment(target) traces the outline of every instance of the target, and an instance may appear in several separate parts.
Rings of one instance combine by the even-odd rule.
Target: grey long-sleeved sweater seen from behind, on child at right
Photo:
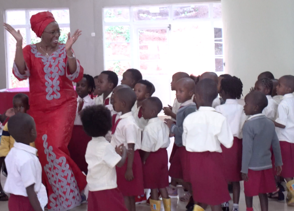
[[[243,126],[242,173],[272,168],[270,147],[273,147],[275,166],[283,165],[280,142],[274,123],[265,116],[248,119]]]

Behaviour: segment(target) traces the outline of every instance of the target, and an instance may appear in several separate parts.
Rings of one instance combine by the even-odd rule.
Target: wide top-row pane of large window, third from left
[[[173,8],[174,19],[208,18],[208,5],[176,6]]]

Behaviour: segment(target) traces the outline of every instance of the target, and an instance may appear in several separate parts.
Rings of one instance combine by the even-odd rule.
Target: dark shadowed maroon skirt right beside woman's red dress
[[[88,173],[88,164],[85,159],[85,154],[87,145],[91,140],[92,137],[86,134],[82,125],[74,125],[71,140],[68,145],[69,154],[71,155],[71,159],[74,160],[76,165],[78,165],[85,174]]]

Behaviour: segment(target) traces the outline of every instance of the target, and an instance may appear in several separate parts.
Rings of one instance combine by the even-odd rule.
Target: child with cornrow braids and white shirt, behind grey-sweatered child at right
[[[266,95],[268,99],[268,106],[262,111],[263,115],[270,120],[275,120],[277,116],[278,103],[272,98],[273,82],[269,78],[259,79],[255,82],[255,91],[261,92]]]

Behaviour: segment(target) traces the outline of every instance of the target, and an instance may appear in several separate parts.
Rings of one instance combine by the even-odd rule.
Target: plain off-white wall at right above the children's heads
[[[222,0],[225,70],[244,94],[261,72],[294,74],[293,8],[293,0]]]

